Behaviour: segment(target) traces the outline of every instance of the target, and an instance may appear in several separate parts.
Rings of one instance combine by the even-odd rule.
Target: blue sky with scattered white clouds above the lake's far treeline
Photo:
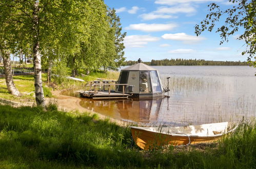
[[[228,43],[222,45],[215,31],[195,35],[194,26],[209,13],[207,5],[210,3],[223,9],[233,6],[226,0],[105,0],[109,8],[116,10],[123,32],[127,32],[124,40],[126,60],[245,61],[247,57],[241,55],[245,43],[236,39],[243,30],[234,33]]]

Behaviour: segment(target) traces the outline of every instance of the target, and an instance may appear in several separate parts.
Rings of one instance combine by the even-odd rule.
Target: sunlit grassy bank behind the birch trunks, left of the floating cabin
[[[84,72],[83,72],[84,73]],[[90,77],[89,77],[90,76]],[[106,79],[117,79],[119,76],[119,72],[91,72],[89,76],[82,77],[77,76],[77,78],[84,79],[85,81],[95,80],[96,78],[106,78]],[[12,101],[35,101],[34,98],[34,76],[33,75],[19,75],[13,76],[13,80],[15,86],[22,93],[21,97],[16,97],[11,95],[6,87],[6,82],[4,77],[0,77],[0,100],[12,100]],[[84,88],[85,82],[68,80],[68,79],[58,79],[52,78],[52,83],[48,86],[47,83],[47,74],[42,74],[43,80],[43,88],[45,97],[52,97],[51,91],[52,90],[63,90],[63,89],[81,89]]]

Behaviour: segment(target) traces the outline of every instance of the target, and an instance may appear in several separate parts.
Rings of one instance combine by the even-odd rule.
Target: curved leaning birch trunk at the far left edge
[[[10,52],[2,49],[0,55],[4,61],[5,81],[8,91],[14,96],[21,96],[13,81]]]

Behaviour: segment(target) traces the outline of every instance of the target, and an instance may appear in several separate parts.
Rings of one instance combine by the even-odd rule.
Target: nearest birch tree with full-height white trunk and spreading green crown
[[[97,8],[101,0],[48,1],[48,0],[1,0],[4,10],[16,10],[15,24],[11,26],[26,34],[32,46],[36,104],[45,107],[42,87],[42,53],[51,44],[62,46],[68,53],[79,50],[86,42],[87,24],[92,16],[91,7]],[[19,39],[17,39],[19,41]],[[54,47],[54,46],[53,46]]]

